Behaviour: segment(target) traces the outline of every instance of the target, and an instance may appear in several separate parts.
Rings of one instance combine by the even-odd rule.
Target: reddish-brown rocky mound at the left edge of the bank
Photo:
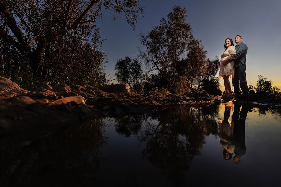
[[[0,77],[0,96],[14,97],[17,95],[26,95],[29,91],[20,88],[10,79]]]

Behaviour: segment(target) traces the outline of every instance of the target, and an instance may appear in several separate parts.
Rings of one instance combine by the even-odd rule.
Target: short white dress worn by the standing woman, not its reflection
[[[222,54],[220,55],[221,60],[220,60],[219,78],[222,79],[223,75],[229,75],[229,79],[230,77],[234,78],[234,61],[228,63],[225,66],[222,66],[222,62],[229,55],[235,55],[235,54],[236,54],[236,50],[234,46],[230,46],[228,49],[222,52]]]

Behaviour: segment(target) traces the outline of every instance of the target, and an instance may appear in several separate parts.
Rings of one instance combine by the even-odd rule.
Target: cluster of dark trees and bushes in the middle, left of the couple
[[[148,35],[141,33],[142,47],[137,51],[138,61],[134,61],[137,65],[130,66],[128,71],[126,61],[118,60],[115,66],[117,80],[129,84],[125,80],[134,77],[133,84],[129,85],[137,94],[153,90],[157,90],[156,93],[183,94],[193,89],[221,94],[216,76],[219,59],[206,58],[207,51],[202,41],[194,38],[186,18],[185,8],[175,6],[167,19],[162,18],[160,26],[155,26]],[[140,66],[144,69],[143,73],[137,70]],[[136,76],[136,73],[139,75]]]

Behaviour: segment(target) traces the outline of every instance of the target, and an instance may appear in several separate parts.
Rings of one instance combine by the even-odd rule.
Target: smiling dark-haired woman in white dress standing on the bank
[[[234,61],[225,64],[229,59],[231,59],[235,54],[236,50],[233,44],[233,41],[230,38],[227,38],[224,41],[224,51],[220,55],[220,70],[219,70],[219,78],[224,79],[224,88],[225,94],[224,97],[232,97],[233,93],[231,91],[230,77],[234,77]]]

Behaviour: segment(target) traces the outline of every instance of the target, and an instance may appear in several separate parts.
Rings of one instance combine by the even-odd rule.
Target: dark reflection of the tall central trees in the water
[[[200,155],[205,136],[218,134],[214,116],[218,107],[162,108],[150,114],[138,139],[145,143],[143,156],[167,174],[175,184],[183,184],[184,170]]]

